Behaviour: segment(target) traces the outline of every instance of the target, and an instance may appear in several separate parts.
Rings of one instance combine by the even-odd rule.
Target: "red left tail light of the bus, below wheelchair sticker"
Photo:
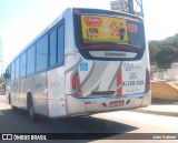
[[[80,98],[81,96],[81,86],[80,86],[80,80],[79,80],[79,74],[78,72],[76,72],[72,75],[72,95],[76,98]]]

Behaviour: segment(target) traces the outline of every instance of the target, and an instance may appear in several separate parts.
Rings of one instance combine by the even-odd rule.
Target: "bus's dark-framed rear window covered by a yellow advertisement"
[[[75,14],[76,45],[90,60],[139,60],[145,50],[144,24],[109,16]]]

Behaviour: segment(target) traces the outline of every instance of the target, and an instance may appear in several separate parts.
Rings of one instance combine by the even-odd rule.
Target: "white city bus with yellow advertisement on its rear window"
[[[48,118],[90,115],[151,103],[144,19],[68,8],[7,67],[12,109]]]

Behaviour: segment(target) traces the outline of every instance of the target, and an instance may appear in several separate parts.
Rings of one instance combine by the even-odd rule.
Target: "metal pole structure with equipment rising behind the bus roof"
[[[142,0],[115,0],[110,2],[111,10],[136,14],[144,18]]]

